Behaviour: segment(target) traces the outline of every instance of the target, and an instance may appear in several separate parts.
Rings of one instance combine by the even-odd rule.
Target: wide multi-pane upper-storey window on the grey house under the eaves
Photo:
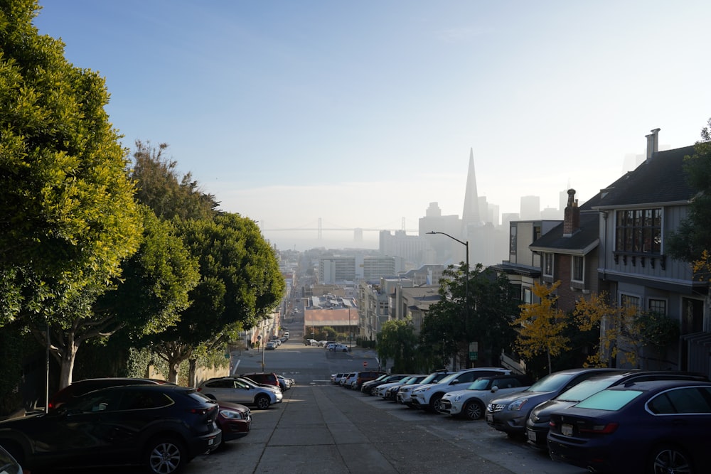
[[[615,221],[615,249],[635,254],[661,254],[662,210],[619,210]]]

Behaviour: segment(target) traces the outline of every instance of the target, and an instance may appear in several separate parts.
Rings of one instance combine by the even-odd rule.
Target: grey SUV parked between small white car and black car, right
[[[557,397],[570,387],[596,375],[623,372],[620,369],[584,368],[553,372],[542,377],[523,392],[503,395],[491,400],[486,406],[486,423],[493,429],[503,431],[510,438],[523,436],[526,420],[533,408],[546,400]]]

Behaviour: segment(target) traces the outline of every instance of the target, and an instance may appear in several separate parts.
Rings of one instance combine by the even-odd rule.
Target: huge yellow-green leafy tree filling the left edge
[[[92,304],[138,249],[141,217],[105,81],[38,35],[38,8],[0,4],[0,276],[9,295],[0,314],[64,340],[66,380],[73,330],[90,324]]]

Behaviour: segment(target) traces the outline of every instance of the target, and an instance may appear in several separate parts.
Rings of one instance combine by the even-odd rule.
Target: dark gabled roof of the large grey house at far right
[[[694,146],[658,151],[634,171],[626,173],[587,201],[583,209],[688,203],[696,191],[690,187],[683,163],[695,153]]]

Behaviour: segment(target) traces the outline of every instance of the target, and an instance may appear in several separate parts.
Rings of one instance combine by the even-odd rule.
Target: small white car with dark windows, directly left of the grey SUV
[[[479,377],[463,390],[447,392],[439,400],[439,411],[451,416],[464,416],[470,420],[483,418],[486,404],[504,394],[520,392],[530,387],[526,375],[490,375]]]

